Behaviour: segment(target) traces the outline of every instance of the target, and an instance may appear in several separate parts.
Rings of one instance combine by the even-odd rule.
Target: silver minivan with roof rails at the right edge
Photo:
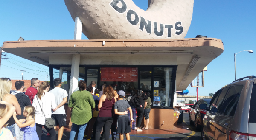
[[[204,116],[202,140],[256,140],[256,77],[218,90]]]

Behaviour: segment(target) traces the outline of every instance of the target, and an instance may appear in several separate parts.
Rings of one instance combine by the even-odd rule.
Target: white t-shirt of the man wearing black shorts
[[[55,87],[50,92],[55,96],[55,103],[56,103],[57,106],[59,104],[61,104],[61,102],[63,101],[63,98],[67,97],[67,91],[62,89],[62,88],[59,88],[59,87]],[[52,114],[66,114],[65,109],[64,109],[64,105],[61,106],[60,108],[58,108]]]

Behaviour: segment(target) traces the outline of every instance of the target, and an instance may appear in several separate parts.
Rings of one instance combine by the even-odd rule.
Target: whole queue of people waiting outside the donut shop
[[[6,140],[41,140],[42,128],[49,133],[50,140],[63,136],[67,115],[64,104],[67,102],[67,91],[61,88],[61,79],[53,81],[55,88],[49,91],[50,84],[40,83],[38,78],[31,79],[31,87],[25,94],[23,81],[16,81],[16,91],[10,94],[10,78],[0,78],[0,139]],[[119,134],[120,140],[130,140],[131,129],[142,131],[148,129],[150,112],[150,92],[142,90],[124,100],[125,92],[117,85],[102,85],[102,91],[95,88],[96,82],[89,86],[79,81],[78,89],[68,101],[72,122],[70,140],[112,140]],[[143,115],[145,127],[141,128]],[[135,126],[137,120],[137,127]],[[103,132],[102,132],[103,129]],[[102,132],[102,134],[101,134]]]

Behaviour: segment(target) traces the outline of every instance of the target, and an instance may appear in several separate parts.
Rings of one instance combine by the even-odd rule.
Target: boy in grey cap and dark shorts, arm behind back
[[[117,92],[118,101],[115,103],[115,114],[117,117],[117,130],[116,133],[119,134],[120,140],[124,140],[124,134],[126,136],[126,140],[130,140],[129,132],[131,132],[130,120],[128,117],[128,111],[132,116],[132,110],[127,101],[123,98],[125,97],[125,92],[120,90]],[[134,119],[131,117],[131,121],[134,122]]]

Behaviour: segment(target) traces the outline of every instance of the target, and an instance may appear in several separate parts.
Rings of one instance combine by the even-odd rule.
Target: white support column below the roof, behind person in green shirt
[[[80,65],[80,54],[73,54],[72,65],[71,65],[69,98],[78,85],[79,65]]]

